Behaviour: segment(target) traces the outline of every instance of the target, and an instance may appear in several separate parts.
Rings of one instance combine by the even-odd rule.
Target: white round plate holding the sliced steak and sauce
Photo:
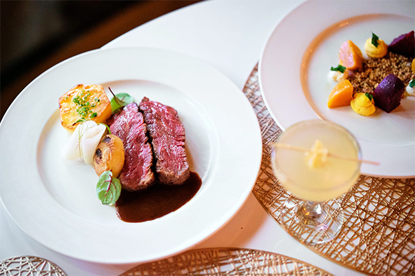
[[[60,155],[70,135],[60,126],[58,98],[78,83],[176,108],[199,192],[175,212],[136,224],[102,205],[93,166]],[[230,79],[192,57],[151,48],[94,50],[50,68],[12,103],[0,141],[1,201],[17,225],[58,253],[111,264],[174,255],[215,233],[246,201],[262,155],[255,112]]]

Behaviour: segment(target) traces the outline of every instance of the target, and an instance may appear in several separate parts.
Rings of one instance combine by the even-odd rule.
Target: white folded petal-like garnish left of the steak
[[[107,130],[107,127],[103,124],[96,124],[95,121],[84,121],[75,128],[64,148],[62,148],[62,157],[68,160],[83,159],[86,164],[92,164],[93,155],[105,130]]]

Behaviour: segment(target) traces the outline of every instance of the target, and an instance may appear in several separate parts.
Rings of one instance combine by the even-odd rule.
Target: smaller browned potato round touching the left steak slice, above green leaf
[[[124,166],[124,145],[116,135],[105,135],[93,155],[93,168],[98,176],[111,170],[113,177],[118,177]]]

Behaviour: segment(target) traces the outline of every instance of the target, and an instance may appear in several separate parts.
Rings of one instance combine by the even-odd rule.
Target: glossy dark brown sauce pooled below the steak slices
[[[163,217],[181,208],[201,188],[202,179],[196,172],[181,185],[155,183],[145,190],[122,190],[116,202],[116,213],[122,221],[142,222]]]

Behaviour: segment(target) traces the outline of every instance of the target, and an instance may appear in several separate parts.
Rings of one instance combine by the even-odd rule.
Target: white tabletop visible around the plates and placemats
[[[221,70],[242,89],[270,32],[302,1],[203,1],[149,21],[102,48],[144,46],[181,52]],[[252,193],[228,224],[194,246],[211,247],[266,250],[335,275],[362,275],[297,242],[266,213]],[[49,259],[68,275],[118,275],[136,266],[95,264],[59,255],[28,237],[0,206],[0,260],[19,255]]]

